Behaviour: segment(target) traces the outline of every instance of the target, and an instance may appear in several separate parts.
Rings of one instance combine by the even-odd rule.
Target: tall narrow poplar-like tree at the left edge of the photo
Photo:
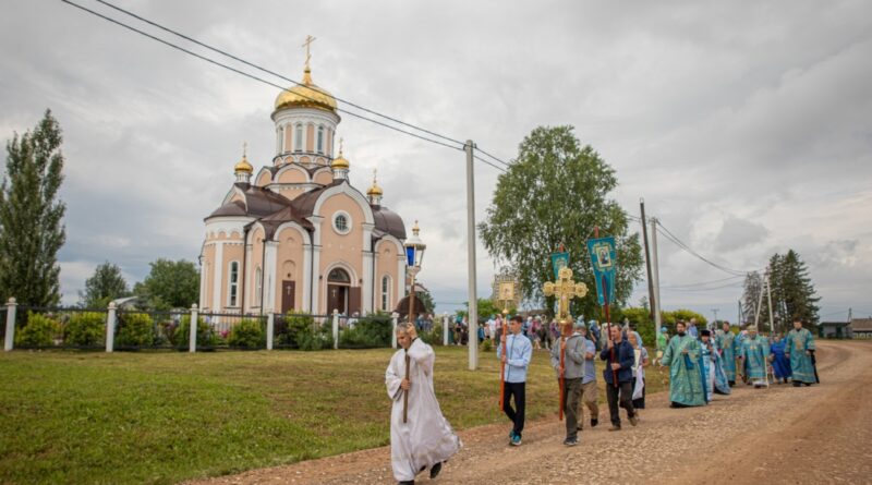
[[[60,302],[58,251],[65,241],[61,128],[47,110],[33,131],[7,142],[0,184],[0,298],[34,306]]]

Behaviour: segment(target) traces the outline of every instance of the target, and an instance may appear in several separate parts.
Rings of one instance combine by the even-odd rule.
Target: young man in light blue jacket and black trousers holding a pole
[[[512,428],[509,432],[509,444],[521,446],[521,433],[524,431],[524,401],[526,400],[526,368],[533,357],[533,344],[530,339],[521,334],[521,316],[516,315],[509,320],[509,336],[500,336],[497,345],[497,359],[504,365],[502,412],[511,420]],[[506,355],[502,348],[506,347]],[[514,397],[514,409],[510,399]]]

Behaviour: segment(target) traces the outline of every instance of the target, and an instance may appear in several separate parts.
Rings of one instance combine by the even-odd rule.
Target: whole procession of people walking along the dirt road
[[[753,325],[735,332],[729,323],[722,328],[703,328],[697,322],[677,322],[676,335],[666,327],[656,337],[656,353],[650,359],[642,337],[629,325],[603,325],[581,319],[560,326],[538,317],[513,316],[504,320],[494,315],[481,326],[479,341],[491,339],[500,362],[501,407],[511,422],[510,446],[521,446],[526,405],[528,369],[534,349],[547,349],[560,390],[561,415],[566,416],[564,445],[580,441],[584,427],[583,409],[590,426],[600,420],[595,360],[604,361],[606,402],[610,432],[621,429],[623,408],[632,426],[640,423],[645,409],[645,368],[669,367],[671,408],[705,405],[715,395],[729,395],[741,383],[754,388],[773,381],[810,386],[819,381],[814,338],[796,320],[786,336],[761,336]],[[463,341],[464,320],[458,320],[457,342]],[[457,335],[457,334],[456,334]],[[429,470],[438,475],[443,463],[459,451],[462,444],[443,416],[433,389],[433,349],[417,338],[413,325],[397,329],[402,347],[386,372],[391,412],[391,462],[400,484],[413,484],[415,476]],[[417,383],[417,385],[415,385]]]

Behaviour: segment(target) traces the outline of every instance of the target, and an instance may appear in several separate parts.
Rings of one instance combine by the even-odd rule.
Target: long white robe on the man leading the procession
[[[399,482],[411,481],[422,468],[429,468],[448,460],[463,446],[443,416],[436,392],[433,390],[433,348],[415,339],[409,347],[409,409],[407,423],[402,422],[402,396],[400,388],[405,378],[405,351],[398,350],[385,372],[388,397],[393,401],[390,410],[390,462],[393,477]]]

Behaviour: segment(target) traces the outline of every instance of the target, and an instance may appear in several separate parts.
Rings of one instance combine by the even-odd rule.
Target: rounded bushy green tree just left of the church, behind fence
[[[160,258],[150,263],[145,280],[136,283],[133,293],[143,296],[156,310],[187,308],[199,298],[199,271],[184,259]]]

